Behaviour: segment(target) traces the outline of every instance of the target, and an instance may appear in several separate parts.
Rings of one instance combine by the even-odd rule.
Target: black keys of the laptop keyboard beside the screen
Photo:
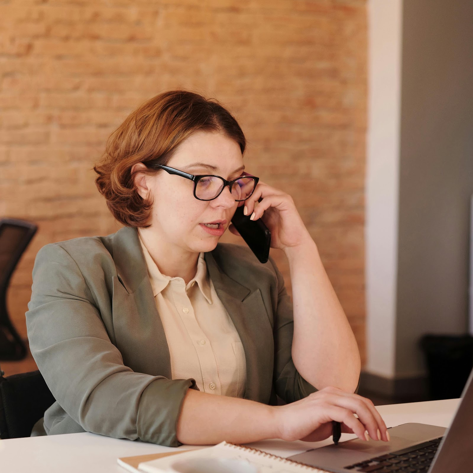
[[[425,473],[429,470],[441,440],[442,437],[435,438],[397,452],[345,466],[345,469],[366,473]]]

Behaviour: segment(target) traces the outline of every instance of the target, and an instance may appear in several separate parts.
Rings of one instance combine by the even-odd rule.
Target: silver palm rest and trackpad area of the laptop
[[[402,448],[432,440],[444,435],[446,428],[435,425],[408,423],[389,430],[390,442],[360,440],[359,438],[315,448],[298,455],[289,456],[290,460],[306,463],[322,469],[343,470],[344,466],[363,462],[368,458],[385,455]]]

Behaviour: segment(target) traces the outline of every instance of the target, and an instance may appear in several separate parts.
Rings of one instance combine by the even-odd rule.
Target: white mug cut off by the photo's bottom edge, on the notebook
[[[172,463],[169,473],[258,473],[259,468],[233,458],[187,458]]]

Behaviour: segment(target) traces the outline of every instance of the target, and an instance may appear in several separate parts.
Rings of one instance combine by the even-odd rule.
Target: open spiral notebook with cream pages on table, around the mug
[[[199,448],[198,450],[186,450],[182,453],[173,452],[172,455],[162,456],[151,461],[141,461],[138,468],[130,469],[127,465],[132,462],[126,462],[127,458],[119,458],[119,464],[127,468],[129,471],[145,472],[145,473],[163,473],[169,466],[177,460],[184,460],[184,458],[233,458],[237,460],[246,460],[259,468],[260,473],[298,473],[298,472],[315,472],[315,473],[329,473],[325,470],[320,470],[303,463],[287,460],[281,456],[272,455],[270,453],[257,450],[256,448],[245,447],[243,445],[235,445],[225,441],[219,444],[208,447]],[[150,455],[148,455],[149,458]],[[130,460],[134,457],[129,457]],[[137,457],[135,457],[137,458]],[[143,458],[144,459],[144,458]],[[123,464],[125,463],[125,464]],[[135,460],[136,465],[136,460]]]

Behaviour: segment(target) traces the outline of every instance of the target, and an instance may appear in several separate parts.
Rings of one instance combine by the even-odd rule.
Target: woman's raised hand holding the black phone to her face
[[[258,200],[261,199],[260,202]],[[245,205],[245,215],[251,215],[252,220],[262,219],[271,232],[271,247],[284,250],[289,246],[297,246],[311,238],[292,197],[268,184],[259,181],[254,193],[245,201],[239,202],[238,207]],[[254,215],[252,215],[254,214]],[[239,235],[231,224],[229,230]]]

